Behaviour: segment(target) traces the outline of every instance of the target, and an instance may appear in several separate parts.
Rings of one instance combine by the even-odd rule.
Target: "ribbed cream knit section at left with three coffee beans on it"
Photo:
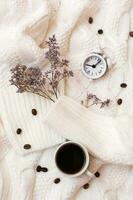
[[[42,150],[65,140],[43,122],[51,102],[37,95],[16,93],[16,88],[9,86],[1,89],[0,107],[7,137],[18,153]],[[32,109],[37,110],[37,116]],[[22,130],[21,135],[17,135],[17,129]],[[31,149],[25,150],[25,144],[30,144]]]

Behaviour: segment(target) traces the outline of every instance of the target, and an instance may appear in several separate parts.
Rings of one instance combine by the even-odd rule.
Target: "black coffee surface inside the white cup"
[[[86,157],[78,144],[68,143],[57,151],[55,160],[62,172],[76,174],[84,167]]]

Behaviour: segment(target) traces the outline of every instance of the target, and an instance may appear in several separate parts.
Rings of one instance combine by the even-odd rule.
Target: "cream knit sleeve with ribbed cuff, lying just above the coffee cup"
[[[57,114],[58,121],[55,121]],[[91,153],[106,162],[133,165],[132,147],[121,139],[123,132],[129,140],[132,137],[133,119],[119,118],[100,116],[68,97],[62,97],[46,116],[45,123],[61,136],[84,144]],[[62,129],[61,124],[64,124]],[[128,129],[125,128],[127,124]]]

